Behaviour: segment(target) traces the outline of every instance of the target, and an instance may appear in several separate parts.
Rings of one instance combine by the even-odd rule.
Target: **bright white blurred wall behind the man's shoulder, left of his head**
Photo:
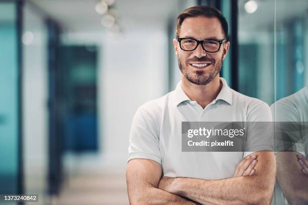
[[[126,166],[131,121],[144,102],[167,91],[164,29],[140,29],[106,38],[101,48],[99,105],[104,163]]]

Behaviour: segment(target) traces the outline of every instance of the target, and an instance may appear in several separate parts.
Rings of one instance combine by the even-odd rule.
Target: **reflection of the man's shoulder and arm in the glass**
[[[308,86],[271,106],[277,180],[286,204],[308,204]]]

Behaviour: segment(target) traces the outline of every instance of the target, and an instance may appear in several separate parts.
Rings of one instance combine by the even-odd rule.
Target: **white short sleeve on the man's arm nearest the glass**
[[[244,156],[258,151],[274,151],[272,115],[265,102],[249,111],[246,125]]]

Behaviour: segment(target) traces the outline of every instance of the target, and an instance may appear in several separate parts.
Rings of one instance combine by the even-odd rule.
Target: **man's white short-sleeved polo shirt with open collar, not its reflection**
[[[269,122],[272,116],[265,102],[231,89],[223,78],[220,82],[219,94],[204,109],[189,99],[181,81],[175,90],[139,107],[131,126],[128,161],[157,161],[164,176],[169,177],[232,177],[236,166],[252,153],[250,148],[240,152],[182,152],[182,122]],[[247,139],[254,150],[259,146],[264,150],[259,137],[266,136]],[[273,150],[271,145],[265,146]]]

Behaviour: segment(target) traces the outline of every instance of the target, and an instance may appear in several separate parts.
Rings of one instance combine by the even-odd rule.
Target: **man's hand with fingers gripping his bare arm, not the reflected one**
[[[257,162],[257,155],[255,154],[245,157],[240,164],[238,164],[233,177],[254,175],[256,172],[254,168]]]

